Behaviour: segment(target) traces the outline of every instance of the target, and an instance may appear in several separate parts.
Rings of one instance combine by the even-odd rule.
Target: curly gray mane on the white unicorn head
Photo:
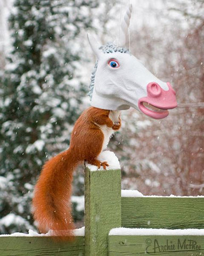
[[[102,50],[103,53],[113,53],[113,52],[121,52],[121,53],[126,53],[127,52],[127,53],[129,53],[129,50],[127,48],[117,46],[116,44],[113,44],[113,43],[107,43],[105,45],[102,45],[99,49]],[[91,75],[91,83],[89,85],[88,95],[90,97],[90,100],[92,100],[92,95],[93,95],[93,90],[94,90],[95,74],[96,74],[97,66],[98,66],[98,61],[96,60],[94,70],[93,70],[92,75]]]

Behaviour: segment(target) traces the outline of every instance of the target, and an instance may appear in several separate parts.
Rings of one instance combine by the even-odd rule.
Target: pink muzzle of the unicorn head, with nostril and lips
[[[167,83],[169,90],[165,91],[157,83],[151,82],[146,86],[147,97],[138,101],[138,108],[154,119],[161,119],[168,116],[168,109],[177,107],[176,93],[170,83]]]

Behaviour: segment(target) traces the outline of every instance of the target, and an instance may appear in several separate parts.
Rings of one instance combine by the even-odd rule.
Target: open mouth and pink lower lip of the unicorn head
[[[145,114],[155,119],[161,119],[168,116],[169,112],[167,109],[158,108],[156,106],[151,105],[148,102],[140,102],[139,104],[140,110]]]

